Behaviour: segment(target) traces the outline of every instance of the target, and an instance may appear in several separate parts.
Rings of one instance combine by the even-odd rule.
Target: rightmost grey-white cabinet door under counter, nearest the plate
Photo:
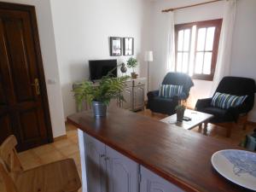
[[[140,185],[140,192],[182,192],[174,184],[166,181],[164,178],[159,177],[154,172],[141,166],[142,182]]]

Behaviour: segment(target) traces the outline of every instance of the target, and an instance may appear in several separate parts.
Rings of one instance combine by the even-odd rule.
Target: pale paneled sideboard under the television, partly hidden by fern
[[[138,79],[128,79],[125,82],[125,88],[123,90],[123,96],[125,101],[119,101],[119,99],[113,99],[110,102],[111,107],[125,108],[131,111],[139,111],[144,109],[144,98],[145,98],[145,84],[146,78],[138,78]],[[97,81],[92,81],[95,85]],[[73,88],[80,83],[74,83]],[[90,103],[83,103],[83,107],[81,110],[77,108],[77,111],[86,111],[90,110]]]

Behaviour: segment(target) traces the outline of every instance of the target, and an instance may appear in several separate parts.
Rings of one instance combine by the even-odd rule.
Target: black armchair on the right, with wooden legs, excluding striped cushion
[[[223,109],[212,107],[212,98],[200,99],[197,101],[195,109],[203,113],[210,113],[214,115],[210,120],[210,123],[213,124],[236,122],[241,114],[247,114],[252,110],[255,90],[255,81],[253,79],[224,77],[224,79],[222,79],[218,84],[218,88],[215,92],[230,94],[233,96],[247,96],[246,100],[240,106]],[[244,125],[244,128],[245,126],[246,125]],[[231,125],[227,128],[230,127]],[[230,129],[227,131],[227,137],[230,137]]]

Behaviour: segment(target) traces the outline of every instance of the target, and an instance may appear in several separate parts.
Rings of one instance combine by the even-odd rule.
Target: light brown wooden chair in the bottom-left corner
[[[76,192],[81,187],[73,159],[58,160],[24,171],[15,150],[14,136],[0,147],[0,176],[7,192]]]

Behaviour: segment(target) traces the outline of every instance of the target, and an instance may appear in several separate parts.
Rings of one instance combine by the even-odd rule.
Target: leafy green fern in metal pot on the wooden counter
[[[127,76],[120,78],[111,78],[110,75],[103,77],[98,84],[90,81],[84,81],[74,90],[76,102],[81,108],[85,101],[92,103],[93,111],[96,117],[106,116],[107,106],[111,99],[118,98],[124,100],[122,91],[125,87]]]

